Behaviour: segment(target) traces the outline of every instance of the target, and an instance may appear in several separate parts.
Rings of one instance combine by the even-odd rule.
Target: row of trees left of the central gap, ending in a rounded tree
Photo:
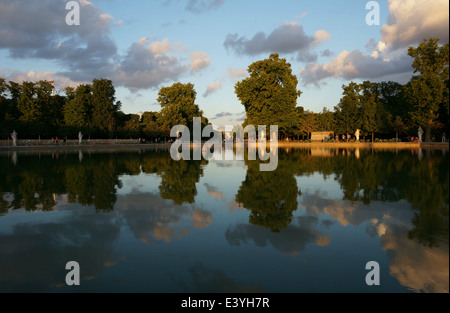
[[[194,116],[203,116],[195,104],[191,83],[163,87],[158,94],[160,112],[125,114],[116,100],[111,80],[66,87],[53,95],[49,81],[22,84],[0,78],[0,137],[16,130],[21,138],[76,138],[79,131],[96,138],[168,137],[174,125],[192,127]],[[208,120],[202,118],[203,124]]]

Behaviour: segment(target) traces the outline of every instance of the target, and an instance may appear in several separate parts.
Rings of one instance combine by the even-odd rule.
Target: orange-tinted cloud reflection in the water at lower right
[[[381,247],[391,260],[389,273],[401,285],[414,292],[449,292],[448,241],[429,248],[409,239],[414,228],[411,204],[399,201],[365,205],[323,199],[316,193],[303,195],[302,206],[308,214],[327,214],[342,226],[367,223],[367,234],[381,239]]]

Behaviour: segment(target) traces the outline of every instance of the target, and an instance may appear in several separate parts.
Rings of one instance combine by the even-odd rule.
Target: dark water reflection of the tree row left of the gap
[[[206,161],[175,162],[167,151],[141,151],[85,153],[82,162],[77,153],[19,155],[15,166],[9,158],[0,158],[0,163],[1,213],[20,208],[50,211],[61,194],[67,194],[69,202],[111,211],[117,188],[122,187],[119,176],[141,171],[161,176],[163,199],[172,199],[175,204],[193,203],[195,185],[203,175],[201,165]]]

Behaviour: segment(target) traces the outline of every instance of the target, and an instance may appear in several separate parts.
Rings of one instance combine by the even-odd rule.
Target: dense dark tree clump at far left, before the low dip
[[[49,81],[18,84],[0,78],[1,137],[13,129],[22,138],[76,136],[80,130],[104,136],[117,129],[121,103],[110,80],[66,87],[65,96],[53,92]]]

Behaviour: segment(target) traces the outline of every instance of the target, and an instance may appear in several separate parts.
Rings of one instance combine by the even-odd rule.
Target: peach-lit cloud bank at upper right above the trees
[[[448,42],[448,8],[448,0],[389,0],[388,23],[382,25],[381,41],[370,39],[366,43],[366,48],[371,49],[368,54],[344,50],[326,64],[308,64],[299,75],[305,84],[316,85],[327,78],[410,78],[412,59],[407,48],[429,37]],[[316,32],[316,41],[326,39],[327,34]]]

